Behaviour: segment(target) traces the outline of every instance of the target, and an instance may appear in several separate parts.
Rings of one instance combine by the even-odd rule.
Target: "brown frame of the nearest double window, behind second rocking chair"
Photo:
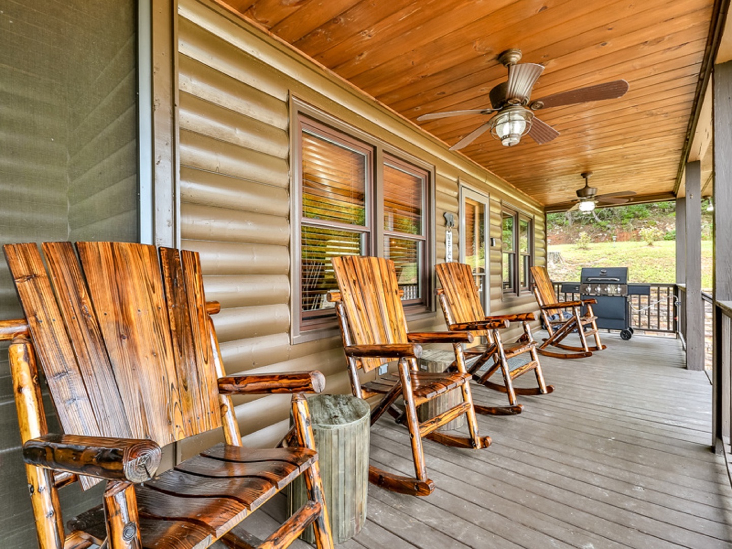
[[[400,239],[417,240],[421,244],[419,256],[421,279],[419,286],[422,296],[419,299],[405,299],[403,302],[408,320],[416,320],[434,312],[435,280],[433,269],[435,258],[435,168],[423,160],[406,152],[395,149],[388,143],[373,135],[352,127],[346,122],[336,119],[308,103],[291,97],[291,343],[305,343],[338,334],[335,310],[331,314],[320,314],[317,319],[305,318],[302,311],[302,227],[321,226],[335,229],[354,229],[344,227],[337,222],[305,219],[302,215],[302,130],[303,124],[308,131],[314,130],[316,135],[325,135],[326,139],[335,143],[347,143],[347,146],[370,149],[370,165],[368,166],[370,182],[366,189],[366,227],[360,228],[365,239],[365,254],[384,257],[384,240],[386,236]],[[422,194],[422,234],[403,234],[397,231],[386,231],[384,228],[384,165],[397,169],[411,169],[424,178]],[[321,311],[322,313],[322,311]]]

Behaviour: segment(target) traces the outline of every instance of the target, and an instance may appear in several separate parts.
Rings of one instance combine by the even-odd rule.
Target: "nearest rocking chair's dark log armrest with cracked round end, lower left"
[[[23,444],[29,465],[135,483],[152,479],[160,455],[160,446],[143,438],[51,434]]]

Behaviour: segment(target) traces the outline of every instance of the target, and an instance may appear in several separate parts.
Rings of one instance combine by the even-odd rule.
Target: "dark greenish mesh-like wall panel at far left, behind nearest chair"
[[[0,244],[138,238],[135,4],[0,2]],[[93,45],[93,46],[92,46]],[[20,318],[0,253],[0,318]],[[0,344],[0,547],[37,548]],[[59,431],[44,395],[49,428]],[[70,516],[103,486],[61,490]]]

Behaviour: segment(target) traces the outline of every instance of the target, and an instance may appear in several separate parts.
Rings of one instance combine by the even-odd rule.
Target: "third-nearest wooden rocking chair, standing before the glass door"
[[[487,340],[485,345],[465,349],[466,357],[479,357],[468,367],[468,373],[471,373],[479,384],[508,395],[509,406],[475,405],[475,411],[479,414],[520,414],[523,405],[518,403],[516,395],[548,395],[553,392],[554,387],[548,386],[544,381],[537,344],[531,336],[529,321],[534,320],[534,313],[486,316],[469,265],[442,263],[435,266],[435,272],[442,285],[437,295],[448,329],[452,332],[471,332],[473,335],[484,336]],[[509,322],[515,321],[523,324],[523,336],[516,343],[504,343],[499,330],[507,327]],[[522,354],[528,354],[528,361],[512,369],[509,366],[509,359]],[[485,372],[479,371],[490,359],[493,359],[493,365],[490,365]],[[489,379],[498,373],[498,370],[503,376],[503,384],[494,383]],[[515,378],[532,370],[537,377],[538,387],[513,386]]]

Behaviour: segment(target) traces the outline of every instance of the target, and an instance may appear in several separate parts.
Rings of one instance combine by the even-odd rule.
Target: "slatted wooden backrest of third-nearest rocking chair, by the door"
[[[441,263],[435,266],[435,272],[455,324],[485,319],[485,311],[480,303],[478,288],[469,265],[452,261]],[[477,332],[476,335],[486,334]]]

